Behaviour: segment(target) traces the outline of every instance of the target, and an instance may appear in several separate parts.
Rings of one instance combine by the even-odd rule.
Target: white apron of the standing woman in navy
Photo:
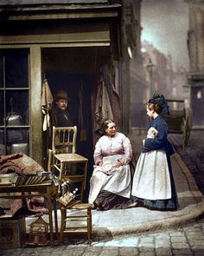
[[[171,198],[169,167],[164,150],[153,150],[140,154],[133,177],[131,194],[146,200]]]

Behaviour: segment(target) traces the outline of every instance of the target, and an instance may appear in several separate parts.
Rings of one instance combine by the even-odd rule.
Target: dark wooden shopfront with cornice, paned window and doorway
[[[130,22],[134,14],[125,10],[131,10],[131,1],[1,1],[0,154],[21,148],[46,167],[48,135],[42,130],[41,112],[46,79],[53,95],[67,90],[79,134],[82,113],[86,140],[79,138],[78,148],[91,159],[94,100],[102,67],[107,67],[109,82],[118,93],[121,128],[129,132],[127,54],[130,46],[132,51],[136,47],[136,32]]]

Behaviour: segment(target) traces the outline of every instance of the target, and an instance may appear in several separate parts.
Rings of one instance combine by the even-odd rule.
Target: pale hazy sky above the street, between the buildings
[[[173,67],[188,70],[188,3],[183,0],[143,0],[142,42],[152,43],[163,54],[172,56]]]

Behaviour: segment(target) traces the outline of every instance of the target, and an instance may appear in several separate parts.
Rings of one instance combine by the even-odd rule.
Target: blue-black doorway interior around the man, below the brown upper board
[[[96,85],[95,75],[69,74],[56,70],[45,70],[49,87],[54,95],[58,89],[67,91],[70,98],[68,103],[69,114],[73,125],[78,128],[77,152],[86,157],[92,154],[92,89]],[[80,93],[82,92],[82,97]],[[83,116],[83,128],[86,138],[81,135],[81,115]]]

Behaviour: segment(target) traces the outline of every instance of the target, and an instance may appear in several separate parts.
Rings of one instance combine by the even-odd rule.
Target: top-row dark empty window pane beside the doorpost
[[[29,87],[27,52],[5,53],[5,86]]]

